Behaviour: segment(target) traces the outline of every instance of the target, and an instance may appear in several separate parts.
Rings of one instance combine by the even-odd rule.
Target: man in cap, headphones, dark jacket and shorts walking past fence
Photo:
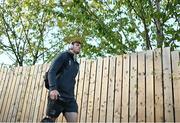
[[[75,77],[79,71],[76,61],[80,53],[81,40],[73,39],[69,50],[60,53],[48,71],[49,94],[46,117],[41,122],[55,122],[63,113],[67,122],[77,122],[78,105],[74,98]]]

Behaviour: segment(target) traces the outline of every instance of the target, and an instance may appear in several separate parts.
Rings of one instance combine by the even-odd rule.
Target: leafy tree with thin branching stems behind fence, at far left
[[[54,29],[53,1],[20,2],[6,0],[0,6],[0,46],[16,65],[33,65],[39,60],[47,60],[49,52],[63,48],[62,38],[57,36],[61,32]],[[56,32],[50,35],[51,31]]]

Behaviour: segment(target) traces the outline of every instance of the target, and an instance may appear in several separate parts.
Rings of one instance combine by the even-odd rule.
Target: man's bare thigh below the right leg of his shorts
[[[66,112],[64,113],[67,122],[77,122],[78,113],[77,112]]]

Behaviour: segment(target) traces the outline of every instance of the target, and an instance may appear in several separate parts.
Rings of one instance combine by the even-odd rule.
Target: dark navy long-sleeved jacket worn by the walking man
[[[79,63],[74,59],[74,54],[69,51],[60,53],[49,68],[49,90],[57,89],[62,98],[74,99],[78,71]]]

